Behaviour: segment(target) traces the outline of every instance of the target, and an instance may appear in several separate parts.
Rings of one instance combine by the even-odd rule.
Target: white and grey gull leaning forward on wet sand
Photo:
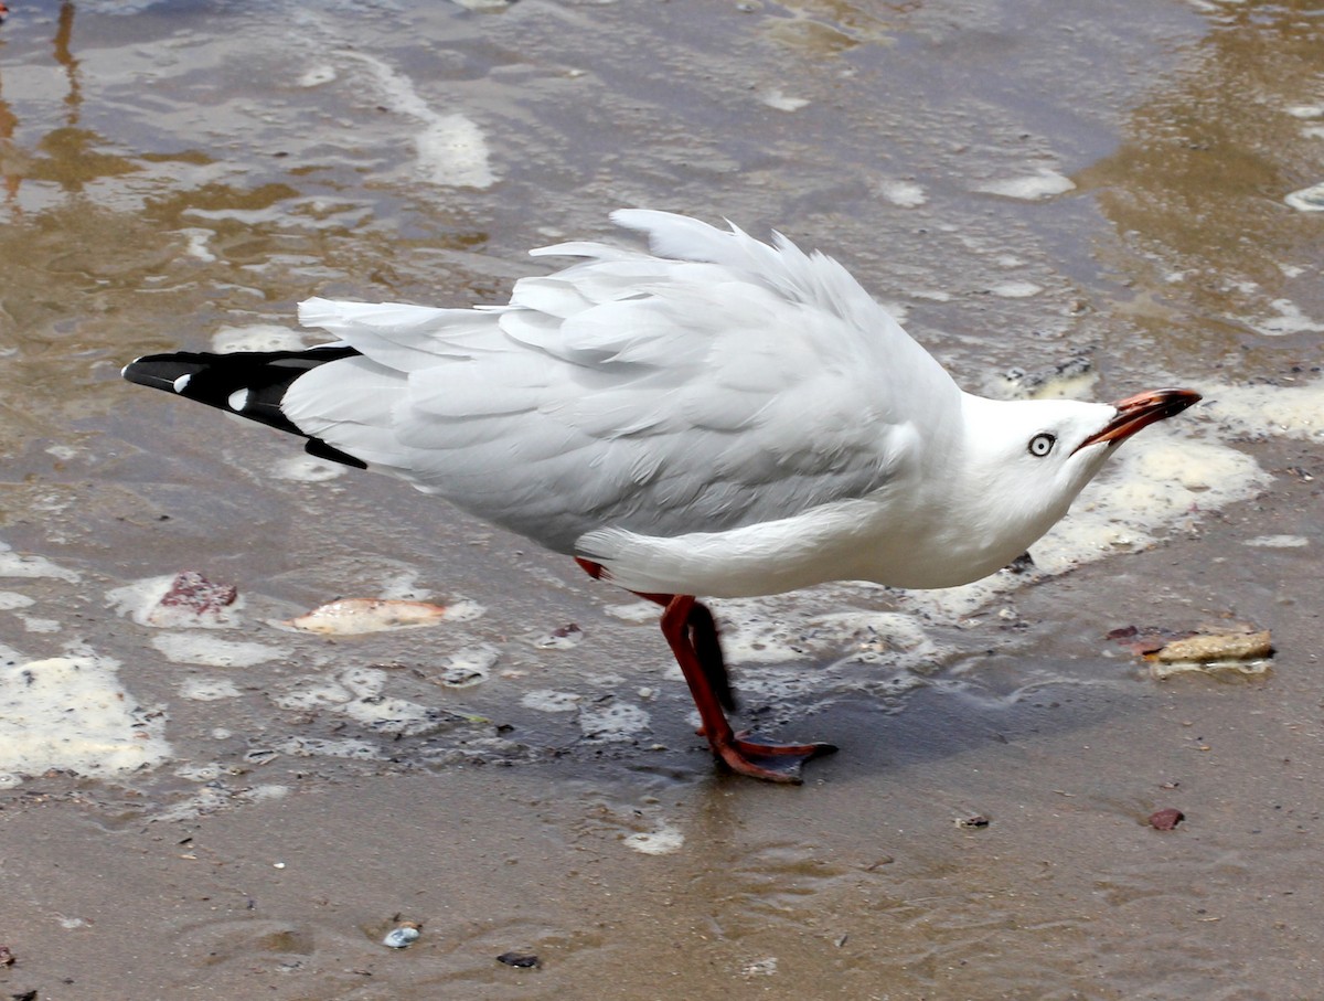
[[[334,343],[151,355],[123,375],[402,478],[657,602],[712,753],[781,783],[837,748],[733,731],[699,598],[978,580],[1121,442],[1200,400],[963,392],[820,252],[651,209],[612,220],[647,249],[532,250],[579,260],[515,282],[507,305],[312,298],[299,320]]]

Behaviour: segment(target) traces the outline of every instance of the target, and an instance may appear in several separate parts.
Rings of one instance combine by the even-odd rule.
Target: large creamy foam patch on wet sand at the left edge
[[[0,669],[0,769],[105,776],[169,757],[164,714],[139,706],[118,667],[78,655]]]

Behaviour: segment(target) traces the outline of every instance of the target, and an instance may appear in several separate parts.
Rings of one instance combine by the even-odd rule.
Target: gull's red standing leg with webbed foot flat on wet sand
[[[800,767],[805,761],[818,755],[830,755],[837,748],[831,744],[763,744],[736,736],[694,649],[690,617],[694,605],[695,600],[688,595],[673,597],[662,613],[662,634],[671,645],[671,653],[690,686],[712,753],[739,775],[771,783],[802,781]]]

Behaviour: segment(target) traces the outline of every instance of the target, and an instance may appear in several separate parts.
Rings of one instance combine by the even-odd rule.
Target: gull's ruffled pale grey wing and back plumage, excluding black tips
[[[305,303],[363,358],[302,376],[290,420],[572,552],[602,527],[723,531],[865,495],[915,401],[959,392],[834,261],[667,213],[614,218],[657,256],[549,248],[588,260],[518,282],[510,306]]]

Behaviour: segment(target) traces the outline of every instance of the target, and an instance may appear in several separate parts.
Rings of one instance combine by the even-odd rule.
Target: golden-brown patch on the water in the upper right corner
[[[1284,200],[1324,179],[1324,138],[1303,117],[1324,103],[1319,5],[1210,4],[1209,17],[1120,148],[1079,176],[1117,228],[1108,263],[1135,283],[1137,323],[1169,364],[1173,348],[1324,332],[1324,233]]]

